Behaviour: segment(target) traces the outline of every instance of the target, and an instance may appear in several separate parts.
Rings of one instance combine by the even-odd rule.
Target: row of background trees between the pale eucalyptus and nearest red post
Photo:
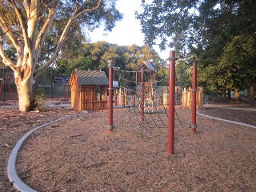
[[[73,47],[69,45],[70,47]],[[70,76],[75,69],[103,70],[108,74],[108,61],[114,62],[119,70],[136,70],[142,62],[150,62],[158,71],[157,79],[168,78],[166,61],[149,46],[118,46],[110,42],[86,42],[79,49],[64,48],[62,56],[38,78],[40,84],[51,83],[51,76]]]

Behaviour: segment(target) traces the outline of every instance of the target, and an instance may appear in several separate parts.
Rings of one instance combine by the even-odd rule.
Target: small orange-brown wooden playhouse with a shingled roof
[[[107,107],[108,78],[101,70],[74,70],[70,77],[71,108],[102,110]]]

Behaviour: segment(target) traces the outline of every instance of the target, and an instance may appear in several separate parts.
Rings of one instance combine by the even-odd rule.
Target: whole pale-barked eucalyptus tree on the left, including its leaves
[[[104,23],[111,30],[122,18],[115,9],[115,0],[2,0],[0,1],[0,58],[14,71],[19,110],[33,106],[32,84],[62,53],[64,43],[81,27],[94,29]],[[38,67],[38,59],[50,44],[49,59]],[[16,50],[14,59],[6,50]]]

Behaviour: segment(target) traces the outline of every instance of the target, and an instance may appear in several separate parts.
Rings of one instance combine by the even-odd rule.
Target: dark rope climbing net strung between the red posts
[[[168,127],[168,93],[166,80],[156,81],[150,70],[126,71],[114,67],[114,127]],[[178,93],[176,89],[176,96]],[[176,102],[179,98],[176,97]],[[175,110],[175,126],[188,127]]]

